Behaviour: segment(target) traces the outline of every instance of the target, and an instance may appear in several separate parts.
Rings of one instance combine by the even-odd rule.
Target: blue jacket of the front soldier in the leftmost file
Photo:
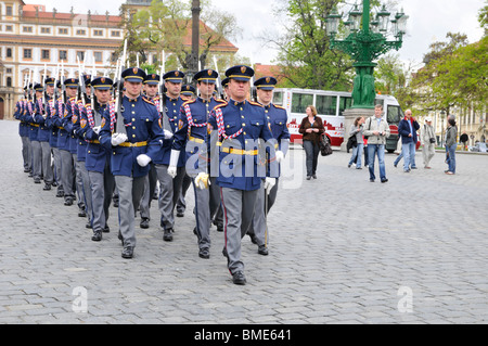
[[[92,112],[93,127],[102,125],[103,113],[106,110],[106,105],[100,105],[100,107]],[[105,146],[100,143],[99,134],[97,134],[90,127],[87,112],[82,112],[80,115],[80,130],[79,134],[88,142],[87,157],[85,159],[85,166],[88,171],[103,172],[105,169],[105,163],[111,162],[111,153]]]

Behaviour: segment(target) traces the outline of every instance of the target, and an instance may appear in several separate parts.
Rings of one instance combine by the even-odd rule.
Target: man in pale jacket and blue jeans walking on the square
[[[370,169],[370,181],[374,182],[374,157],[377,155],[380,164],[380,179],[387,182],[385,170],[385,144],[389,137],[388,123],[383,119],[383,105],[374,106],[374,117],[368,118],[364,125],[363,134],[368,137],[368,168]]]

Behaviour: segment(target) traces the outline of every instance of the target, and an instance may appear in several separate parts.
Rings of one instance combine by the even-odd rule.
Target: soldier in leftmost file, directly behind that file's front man
[[[75,108],[75,98],[78,92],[78,79],[67,78],[64,81],[66,87],[66,103],[59,101],[57,114],[60,120],[55,119],[54,125],[59,127],[57,148],[61,156],[61,181],[64,191],[64,205],[70,206],[75,201],[75,167],[72,154],[70,131],[73,129],[72,108]],[[69,111],[68,111],[69,110]],[[76,149],[76,148],[75,148]]]

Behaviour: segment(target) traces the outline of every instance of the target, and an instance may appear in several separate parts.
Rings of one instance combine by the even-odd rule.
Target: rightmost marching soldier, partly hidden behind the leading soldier
[[[274,77],[262,77],[256,80],[254,86],[256,87],[257,100],[265,107],[267,119],[271,126],[271,132],[278,141],[275,144],[278,146],[275,156],[280,163],[288,149],[290,132],[286,127],[286,110],[271,102],[277,82]],[[268,166],[269,159],[266,164]],[[267,174],[269,175],[269,167]],[[277,200],[278,178],[277,183],[271,190],[265,191],[264,185],[265,181],[261,182],[254,212],[253,226],[249,228],[247,234],[258,245],[258,254],[266,256],[268,255],[268,227],[266,217]]]

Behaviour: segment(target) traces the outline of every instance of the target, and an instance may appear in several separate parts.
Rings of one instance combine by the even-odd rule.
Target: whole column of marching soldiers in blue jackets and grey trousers
[[[235,284],[245,284],[241,240],[249,234],[258,253],[268,255],[268,212],[278,191],[280,163],[288,145],[286,111],[273,105],[273,77],[254,82],[253,68],[195,74],[196,89],[183,86],[184,73],[163,76],[126,68],[115,81],[81,75],[24,88],[15,108],[21,120],[24,171],[43,190],[87,218],[92,241],[110,232],[108,214],[118,194],[118,239],[124,258],[137,244],[136,217],[150,227],[151,201],[158,187],[157,209],[163,240],[175,236],[175,209],[184,215],[184,196],[193,187],[196,243],[210,257],[210,227],[223,231],[222,254]],[[217,94],[218,95],[218,94]]]

